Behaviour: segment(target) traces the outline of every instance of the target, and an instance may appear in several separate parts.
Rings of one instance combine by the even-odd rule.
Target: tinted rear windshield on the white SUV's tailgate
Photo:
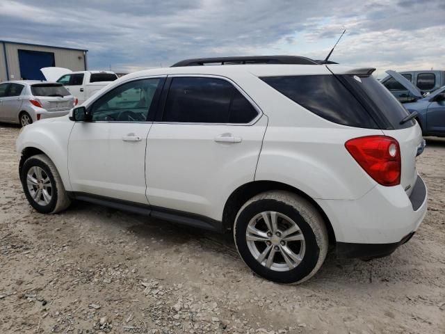
[[[346,81],[348,88],[371,113],[373,119],[382,129],[402,129],[414,125],[414,121],[400,125],[401,120],[408,116],[406,109],[398,102],[389,90],[374,77],[339,76]]]

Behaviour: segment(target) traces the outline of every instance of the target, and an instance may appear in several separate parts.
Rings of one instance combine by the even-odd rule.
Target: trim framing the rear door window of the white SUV
[[[229,122],[224,122],[224,123],[210,123],[210,122],[164,122],[162,120],[163,118],[163,113],[165,110],[165,102],[167,101],[167,95],[168,95],[168,90],[170,90],[170,85],[172,84],[172,79],[173,78],[177,78],[177,77],[186,77],[186,78],[191,78],[191,77],[197,77],[197,78],[213,78],[213,79],[223,79],[225,81],[227,81],[229,84],[232,84],[232,86],[234,86],[234,88],[236,90],[238,90],[239,93],[241,93],[241,95],[243,95],[243,97],[245,97],[246,100],[248,100],[248,102],[253,106],[253,108],[255,109],[255,111],[257,111],[257,116],[255,116],[255,118],[253,120],[251,120],[248,123],[229,123]],[[224,77],[222,75],[217,75],[217,74],[169,74],[167,76],[167,81],[165,81],[164,84],[164,88],[161,94],[161,102],[159,103],[160,108],[158,109],[158,113],[156,113],[156,118],[154,120],[154,123],[156,124],[180,124],[180,125],[233,125],[233,126],[241,126],[241,127],[245,127],[245,126],[252,126],[254,125],[256,122],[258,122],[258,120],[261,118],[261,116],[263,116],[263,111],[261,110],[261,108],[258,106],[258,104],[256,102],[254,102],[254,100],[252,99],[252,97],[250,97],[248,95],[248,93],[245,93],[245,91],[243,90],[243,88],[241,88],[240,86],[238,86],[238,84],[236,84],[236,82],[234,82],[232,79],[228,78],[228,77]]]

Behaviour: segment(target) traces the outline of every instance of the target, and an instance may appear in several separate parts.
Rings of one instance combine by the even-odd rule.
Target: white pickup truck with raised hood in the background
[[[72,72],[63,67],[44,67],[40,71],[48,81],[63,84],[79,100],[79,105],[106,85],[118,79],[118,76],[111,71]]]

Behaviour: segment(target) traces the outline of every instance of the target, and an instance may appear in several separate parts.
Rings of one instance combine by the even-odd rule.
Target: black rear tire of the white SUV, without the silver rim
[[[289,266],[289,269],[285,269],[286,271],[269,269],[266,267],[266,263],[260,263],[252,254],[248,246],[246,231],[249,223],[251,221],[257,221],[253,218],[261,214],[261,212],[277,212],[277,214],[281,216],[290,218],[298,225],[300,231],[297,233],[302,234],[305,243],[304,245],[300,244],[300,247],[302,248],[304,246],[305,250],[303,251],[304,253],[302,253],[301,262],[296,265],[296,267],[293,267],[293,269]],[[280,219],[282,219],[282,217],[277,218],[277,222],[280,222]],[[282,222],[283,221],[286,222],[285,219],[282,219]],[[261,224],[261,217],[259,218],[259,223]],[[321,214],[311,203],[305,200],[305,198],[288,191],[267,191],[248,200],[248,202],[241,207],[235,218],[234,239],[238,253],[241,255],[245,264],[259,276],[277,283],[302,283],[314,276],[323,264],[329,246],[327,229]],[[271,247],[280,249],[280,251],[284,253],[280,245],[273,246],[274,244],[271,244],[270,241],[268,242]],[[273,242],[277,242],[277,240],[274,239]],[[303,241],[288,242],[295,242],[298,245],[298,242],[302,243]],[[261,246],[263,241],[258,241],[258,243],[259,246]],[[287,244],[286,241],[284,241],[284,244],[287,248],[291,248],[290,244]],[[252,241],[250,241],[250,245],[252,245]],[[257,245],[257,241],[254,241],[254,245]],[[264,249],[266,247],[266,244],[264,244]],[[284,262],[284,255],[282,255],[282,253],[276,255],[277,253],[278,250],[273,256],[273,259],[275,260],[278,256],[282,259],[281,262]],[[280,258],[277,259],[277,262],[280,262]],[[264,262],[266,262],[266,260],[264,260]],[[278,263],[274,265],[282,266],[287,264],[284,262],[283,264]],[[270,266],[270,268],[272,267],[273,265]]]

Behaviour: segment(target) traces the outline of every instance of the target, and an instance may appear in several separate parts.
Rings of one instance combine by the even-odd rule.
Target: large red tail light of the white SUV
[[[383,186],[401,183],[401,148],[388,136],[366,136],[345,143],[346,150],[376,182]]]

